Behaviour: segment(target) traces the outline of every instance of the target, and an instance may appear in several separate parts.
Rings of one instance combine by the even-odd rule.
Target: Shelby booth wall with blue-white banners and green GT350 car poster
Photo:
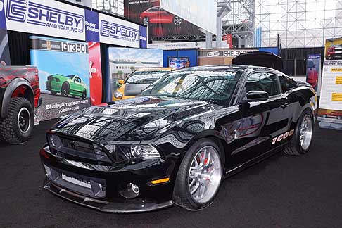
[[[43,103],[35,110],[38,120],[103,103],[107,49],[147,46],[145,26],[113,15],[60,1],[0,3],[0,39],[6,44],[7,29],[12,64],[39,70]],[[9,63],[8,46],[0,49],[1,64]]]

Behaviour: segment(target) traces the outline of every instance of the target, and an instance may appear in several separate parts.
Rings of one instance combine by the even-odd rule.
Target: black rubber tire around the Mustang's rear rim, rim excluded
[[[306,116],[310,117],[311,125],[312,125],[311,131],[312,131],[312,135],[313,135],[313,132],[314,132],[314,124],[313,123],[314,122],[313,122],[312,112],[310,110],[304,110],[302,115],[300,115],[300,118],[299,118],[298,123],[296,125],[296,129],[294,130],[293,137],[292,137],[291,141],[289,142],[289,145],[287,145],[286,148],[284,148],[284,153],[286,153],[287,155],[302,156],[303,154],[308,153],[308,151],[310,150],[310,146],[312,144],[312,135],[310,138],[309,146],[305,146],[306,148],[303,148],[303,146],[300,144],[300,128],[301,128],[303,120]]]

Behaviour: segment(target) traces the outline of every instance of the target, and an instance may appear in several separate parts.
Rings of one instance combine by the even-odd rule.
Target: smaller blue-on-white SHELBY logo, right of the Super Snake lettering
[[[122,39],[129,42],[139,42],[139,30],[131,27],[110,23],[107,20],[101,20],[100,34],[103,37]]]

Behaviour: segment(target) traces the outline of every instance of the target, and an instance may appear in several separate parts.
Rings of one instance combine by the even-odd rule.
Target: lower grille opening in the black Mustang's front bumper
[[[75,173],[58,170],[47,165],[44,165],[44,168],[47,177],[53,184],[85,196],[94,198],[106,197],[106,181],[104,179],[76,175]]]

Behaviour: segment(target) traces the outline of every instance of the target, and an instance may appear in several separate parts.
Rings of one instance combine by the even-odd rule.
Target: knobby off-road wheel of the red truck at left
[[[22,117],[20,122],[18,122],[19,115]],[[9,144],[20,144],[27,141],[34,126],[34,113],[30,101],[22,97],[11,99],[7,117],[0,120],[0,125],[1,137]]]

